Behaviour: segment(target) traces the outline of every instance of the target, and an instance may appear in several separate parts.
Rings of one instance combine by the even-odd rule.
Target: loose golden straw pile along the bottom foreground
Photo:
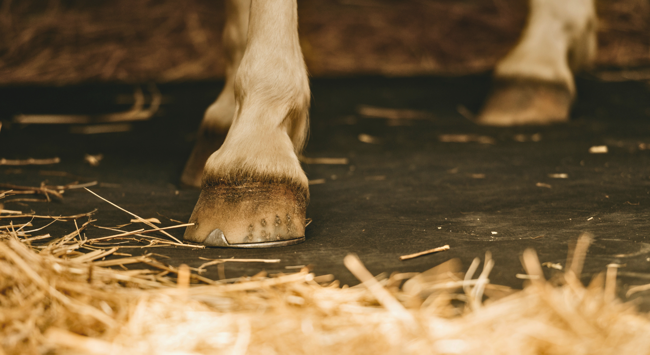
[[[489,254],[477,278],[478,259],[464,276],[450,260],[382,278],[351,254],[363,283],[339,288],[308,269],[213,281],[151,254],[101,261],[117,249],[77,252],[78,230],[34,245],[19,229],[0,232],[0,354],[650,353],[649,319],[615,297],[616,265],[578,280],[589,236],[551,281],[526,251],[530,284],[513,291],[489,283]],[[133,262],[153,269],[109,267]]]

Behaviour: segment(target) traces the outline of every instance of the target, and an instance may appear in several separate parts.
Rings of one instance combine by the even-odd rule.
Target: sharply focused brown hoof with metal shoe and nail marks
[[[206,247],[283,247],[305,240],[307,193],[289,184],[204,187],[183,239]]]

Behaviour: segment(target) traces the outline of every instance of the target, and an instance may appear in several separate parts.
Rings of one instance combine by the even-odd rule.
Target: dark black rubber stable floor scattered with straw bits
[[[2,166],[0,181],[38,186],[44,180],[98,180],[112,185],[92,190],[141,217],[157,217],[163,226],[177,224],[168,218],[185,222],[198,191],[181,190],[178,179],[201,114],[220,86],[160,86],[161,112],[135,123],[131,132],[80,135],[68,133],[67,125],[5,123],[0,158],[59,156],[61,162]],[[122,252],[156,252],[168,256],[161,259],[164,262],[192,267],[204,262],[199,257],[278,258],[280,263],[227,263],[226,277],[261,269],[291,272],[285,266],[311,264],[315,273],[332,273],[352,285],[357,281],[343,266],[350,252],[378,274],[424,271],[450,258],[460,258],[468,267],[490,251],[496,262],[491,282],[519,288],[522,280],[515,275],[523,272],[519,256],[526,248],[536,249],[541,262],[564,265],[571,241],[580,232],[591,232],[595,241],[584,268],[585,282],[608,263],[625,265],[619,270],[621,286],[650,282],[650,92],[645,84],[578,79],[570,123],[512,129],[478,127],[459,114],[459,108],[465,116],[476,112],[488,88],[489,75],[313,80],[311,138],[305,155],[348,158],[349,164],[304,165],[310,180],[324,179],[310,187],[307,217],[313,222],[307,226],[305,243],[279,249],[156,247]],[[132,87],[0,91],[0,112],[9,119],[19,112],[120,110],[126,106],[114,104],[115,98],[129,94]],[[364,104],[425,114],[398,120],[364,117],[358,113]],[[360,134],[365,135],[361,140]],[[450,134],[478,141],[450,142],[460,139]],[[607,145],[608,153],[589,153],[594,145]],[[86,153],[104,158],[92,167],[83,160]],[[51,171],[69,175],[57,177]],[[71,215],[94,208],[99,209],[94,215],[99,226],[123,225],[131,219],[83,190],[67,191],[62,201],[49,203],[5,201],[5,209],[38,214]],[[74,228],[72,222],[58,222],[46,231],[62,236]],[[183,230],[170,232],[183,235]],[[111,233],[86,230],[89,238]],[[442,245],[450,249],[398,259]],[[550,276],[554,269],[545,271]],[[217,278],[216,266],[205,276]]]

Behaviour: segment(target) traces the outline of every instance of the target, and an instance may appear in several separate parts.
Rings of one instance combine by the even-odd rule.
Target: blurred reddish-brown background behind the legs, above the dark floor
[[[524,0],[298,0],[314,77],[459,75],[517,41]],[[223,76],[222,1],[4,0],[0,85]],[[599,67],[650,64],[650,2],[598,0]]]

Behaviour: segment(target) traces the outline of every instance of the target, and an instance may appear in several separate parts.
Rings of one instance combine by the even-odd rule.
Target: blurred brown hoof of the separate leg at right
[[[480,125],[551,125],[569,121],[573,101],[564,84],[532,79],[496,79],[476,119]]]

